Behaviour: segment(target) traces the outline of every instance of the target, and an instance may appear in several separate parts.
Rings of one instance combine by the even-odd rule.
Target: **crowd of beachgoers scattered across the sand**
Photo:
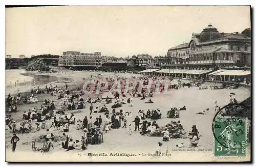
[[[97,84],[99,80],[103,79],[109,81],[112,84],[110,85],[110,87],[106,88],[107,90],[110,90],[112,88],[113,83],[116,80],[119,80],[124,86],[127,80],[127,78],[120,76],[117,76],[116,78],[112,76],[106,78],[97,77],[98,76],[90,77],[90,79],[95,82],[95,85],[87,86],[86,89],[89,90],[90,88],[94,88],[94,91],[96,91],[95,88],[98,86]],[[137,80],[137,83],[139,83],[139,81],[142,81],[143,85],[148,84],[147,77],[133,79]],[[208,89],[207,86],[200,86],[200,82],[185,83],[181,80],[178,80],[178,85],[170,85],[169,89],[182,89],[186,87],[188,89],[190,87]],[[104,85],[101,85],[101,87],[104,87]],[[29,93],[27,93],[23,97],[23,102],[25,104],[37,103],[38,108],[33,107],[23,112],[23,120],[21,121],[19,128],[17,128],[15,120],[13,120],[10,116],[6,116],[6,125],[8,125],[9,129],[13,134],[15,134],[15,136],[16,134],[32,133],[35,131],[46,129],[46,133],[43,138],[45,140],[45,145],[47,146],[47,149],[41,148],[41,150],[43,151],[49,151],[51,147],[53,148],[53,144],[56,142],[56,136],[54,137],[54,134],[56,132],[62,134],[62,138],[65,139],[64,141],[60,142],[62,148],[66,149],[67,151],[74,149],[86,150],[88,148],[88,145],[102,144],[103,134],[111,133],[111,131],[114,129],[125,128],[127,134],[129,135],[132,135],[133,131],[139,131],[141,135],[155,132],[157,129],[159,129],[159,125],[157,124],[156,120],[161,119],[162,116],[159,108],[147,109],[146,112],[144,112],[144,110],[142,109],[139,109],[138,113],[135,116],[133,116],[132,112],[130,112],[129,110],[124,111],[122,109],[123,105],[132,107],[133,98],[137,97],[140,98],[140,100],[147,99],[148,101],[145,100],[146,102],[144,102],[146,103],[145,105],[147,105],[147,103],[154,103],[151,99],[153,97],[154,89],[150,88],[151,91],[146,91],[145,88],[142,88],[141,92],[138,92],[138,89],[139,87],[137,85],[134,90],[130,90],[128,93],[124,92],[123,90],[121,90],[121,93],[115,92],[113,93],[113,97],[107,96],[103,98],[99,95],[95,98],[92,98],[90,96],[85,98],[85,95],[81,89],[77,89],[77,92],[71,92],[67,84],[60,88],[52,85],[50,85],[49,87],[46,86],[45,89],[41,89],[39,87],[37,87],[37,89],[32,88],[30,92],[31,94],[29,95]],[[164,90],[164,85],[160,85],[160,90]],[[103,93],[103,91],[101,93]],[[42,101],[42,99],[38,99],[36,96],[39,94],[51,95],[51,99],[46,98],[44,101]],[[7,106],[15,106],[17,101],[20,101],[20,99],[20,94],[17,94],[14,97],[9,94],[7,98]],[[40,101],[38,102],[38,100]],[[57,101],[61,101],[61,104],[56,105],[55,102]],[[106,104],[111,104],[111,106],[107,107]],[[15,106],[14,108],[16,112],[17,107]],[[87,108],[89,109],[89,111],[88,113],[84,114],[86,115],[84,116],[84,118],[76,118],[75,112],[77,110],[80,109],[84,111]],[[179,110],[186,110],[186,106],[170,108],[170,110],[168,110],[167,112],[167,118],[178,118],[176,112]],[[11,110],[10,113],[11,112],[13,112],[13,110]],[[71,113],[71,115],[67,113]],[[102,115],[99,115],[99,113],[102,113]],[[130,120],[128,118],[131,117],[134,117],[133,121],[128,122],[127,120]],[[48,126],[47,122],[51,122],[51,125]],[[134,129],[132,128],[132,124],[134,124]],[[34,125],[36,125],[36,128],[33,127]],[[80,137],[70,136],[69,132],[71,127],[79,131],[79,133],[81,134]],[[190,138],[189,145],[196,147],[199,137],[198,130],[195,126],[193,126],[192,132],[193,133],[191,133],[192,137]],[[169,134],[167,130],[164,130],[163,133],[165,135],[167,134],[167,136]]]

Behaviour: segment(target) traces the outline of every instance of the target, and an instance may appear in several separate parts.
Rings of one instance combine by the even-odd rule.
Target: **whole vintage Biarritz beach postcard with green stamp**
[[[6,8],[6,161],[250,161],[250,20],[250,6]]]

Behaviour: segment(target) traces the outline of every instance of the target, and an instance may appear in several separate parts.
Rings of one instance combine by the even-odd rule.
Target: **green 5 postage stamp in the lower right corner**
[[[214,120],[214,155],[246,156],[246,118],[222,118]]]

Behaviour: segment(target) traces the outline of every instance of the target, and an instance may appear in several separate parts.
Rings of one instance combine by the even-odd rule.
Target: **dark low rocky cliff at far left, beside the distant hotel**
[[[48,66],[58,65],[59,55],[43,54],[37,55],[33,58],[25,59],[6,59],[6,69],[26,69],[26,70],[40,70],[48,71]]]

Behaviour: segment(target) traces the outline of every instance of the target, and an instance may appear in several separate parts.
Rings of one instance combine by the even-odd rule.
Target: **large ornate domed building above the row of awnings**
[[[219,33],[209,24],[201,33],[193,33],[190,42],[168,49],[162,69],[216,70],[227,66],[245,66],[251,62],[251,30]]]

